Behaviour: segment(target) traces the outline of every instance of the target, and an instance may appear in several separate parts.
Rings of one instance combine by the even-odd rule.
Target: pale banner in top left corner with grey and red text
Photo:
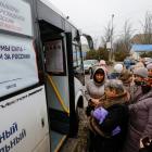
[[[21,0],[0,0],[0,29],[33,36],[30,5]]]

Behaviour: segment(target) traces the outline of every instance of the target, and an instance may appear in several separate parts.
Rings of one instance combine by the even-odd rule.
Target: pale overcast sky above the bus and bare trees
[[[152,13],[152,0],[50,0],[84,33],[99,38],[112,21],[115,36],[121,35],[125,21],[132,29],[141,28],[147,12]]]

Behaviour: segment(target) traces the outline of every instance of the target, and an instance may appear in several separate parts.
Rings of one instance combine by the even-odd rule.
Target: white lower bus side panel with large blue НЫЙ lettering
[[[43,142],[49,136],[43,86],[0,102],[0,151],[50,151]]]

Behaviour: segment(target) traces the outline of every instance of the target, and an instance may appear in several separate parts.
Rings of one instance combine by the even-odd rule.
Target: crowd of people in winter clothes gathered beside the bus
[[[139,64],[110,73],[102,60],[93,71],[85,91],[89,152],[152,152],[152,63]]]

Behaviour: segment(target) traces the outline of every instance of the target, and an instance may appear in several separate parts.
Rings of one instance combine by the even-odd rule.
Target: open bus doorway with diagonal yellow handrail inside
[[[69,88],[66,68],[65,39],[63,31],[39,21],[45,54],[47,99],[51,128],[51,149],[58,149],[69,131]]]

